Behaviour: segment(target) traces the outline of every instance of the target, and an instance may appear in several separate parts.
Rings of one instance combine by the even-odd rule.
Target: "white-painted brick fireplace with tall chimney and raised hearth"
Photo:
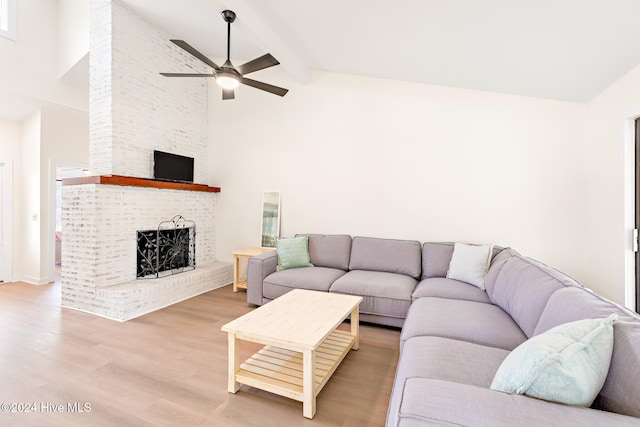
[[[91,0],[89,163],[95,176],[153,177],[153,150],[193,157],[206,182],[206,79],[168,79],[161,71],[204,72],[117,1]],[[101,183],[66,183],[62,199],[62,306],[125,321],[231,283],[216,261],[216,193]],[[136,280],[137,230],[182,215],[196,223],[196,268]]]

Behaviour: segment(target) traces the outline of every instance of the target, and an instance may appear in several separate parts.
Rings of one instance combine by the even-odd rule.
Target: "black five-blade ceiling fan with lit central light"
[[[271,56],[270,53],[264,54],[259,58],[242,64],[239,67],[234,67],[229,60],[229,51],[231,46],[231,23],[236,20],[235,12],[231,10],[225,10],[222,12],[222,18],[227,23],[227,60],[222,67],[216,65],[209,58],[198,52],[193,46],[183,40],[171,40],[175,45],[189,52],[211,68],[213,68],[212,74],[193,74],[193,73],[160,73],[166,77],[215,77],[216,83],[222,87],[222,99],[234,99],[234,89],[241,83],[247,86],[254,87],[256,89],[264,90],[274,95],[285,96],[288,89],[284,89],[278,86],[270,85],[268,83],[259,82],[257,80],[249,79],[245,77],[246,74],[253,73],[255,71],[263,70],[265,68],[273,67],[280,64],[276,58]]]

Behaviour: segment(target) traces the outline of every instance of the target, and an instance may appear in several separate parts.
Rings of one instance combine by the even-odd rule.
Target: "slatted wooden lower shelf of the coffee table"
[[[334,330],[316,349],[315,392],[317,396],[342,359],[354,346],[349,332]],[[304,402],[302,353],[265,346],[240,365],[239,383]]]

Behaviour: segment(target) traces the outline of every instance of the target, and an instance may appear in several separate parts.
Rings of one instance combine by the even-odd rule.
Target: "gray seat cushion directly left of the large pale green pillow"
[[[435,378],[486,388],[508,354],[507,350],[449,338],[409,339],[398,361],[389,401],[388,420],[393,419],[398,413],[407,379]],[[425,396],[422,396],[422,399],[428,400]]]

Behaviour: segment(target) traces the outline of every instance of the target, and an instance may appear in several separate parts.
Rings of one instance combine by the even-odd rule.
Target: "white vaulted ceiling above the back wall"
[[[588,102],[640,64],[639,0],[122,0],[236,65],[270,52],[310,70]]]

